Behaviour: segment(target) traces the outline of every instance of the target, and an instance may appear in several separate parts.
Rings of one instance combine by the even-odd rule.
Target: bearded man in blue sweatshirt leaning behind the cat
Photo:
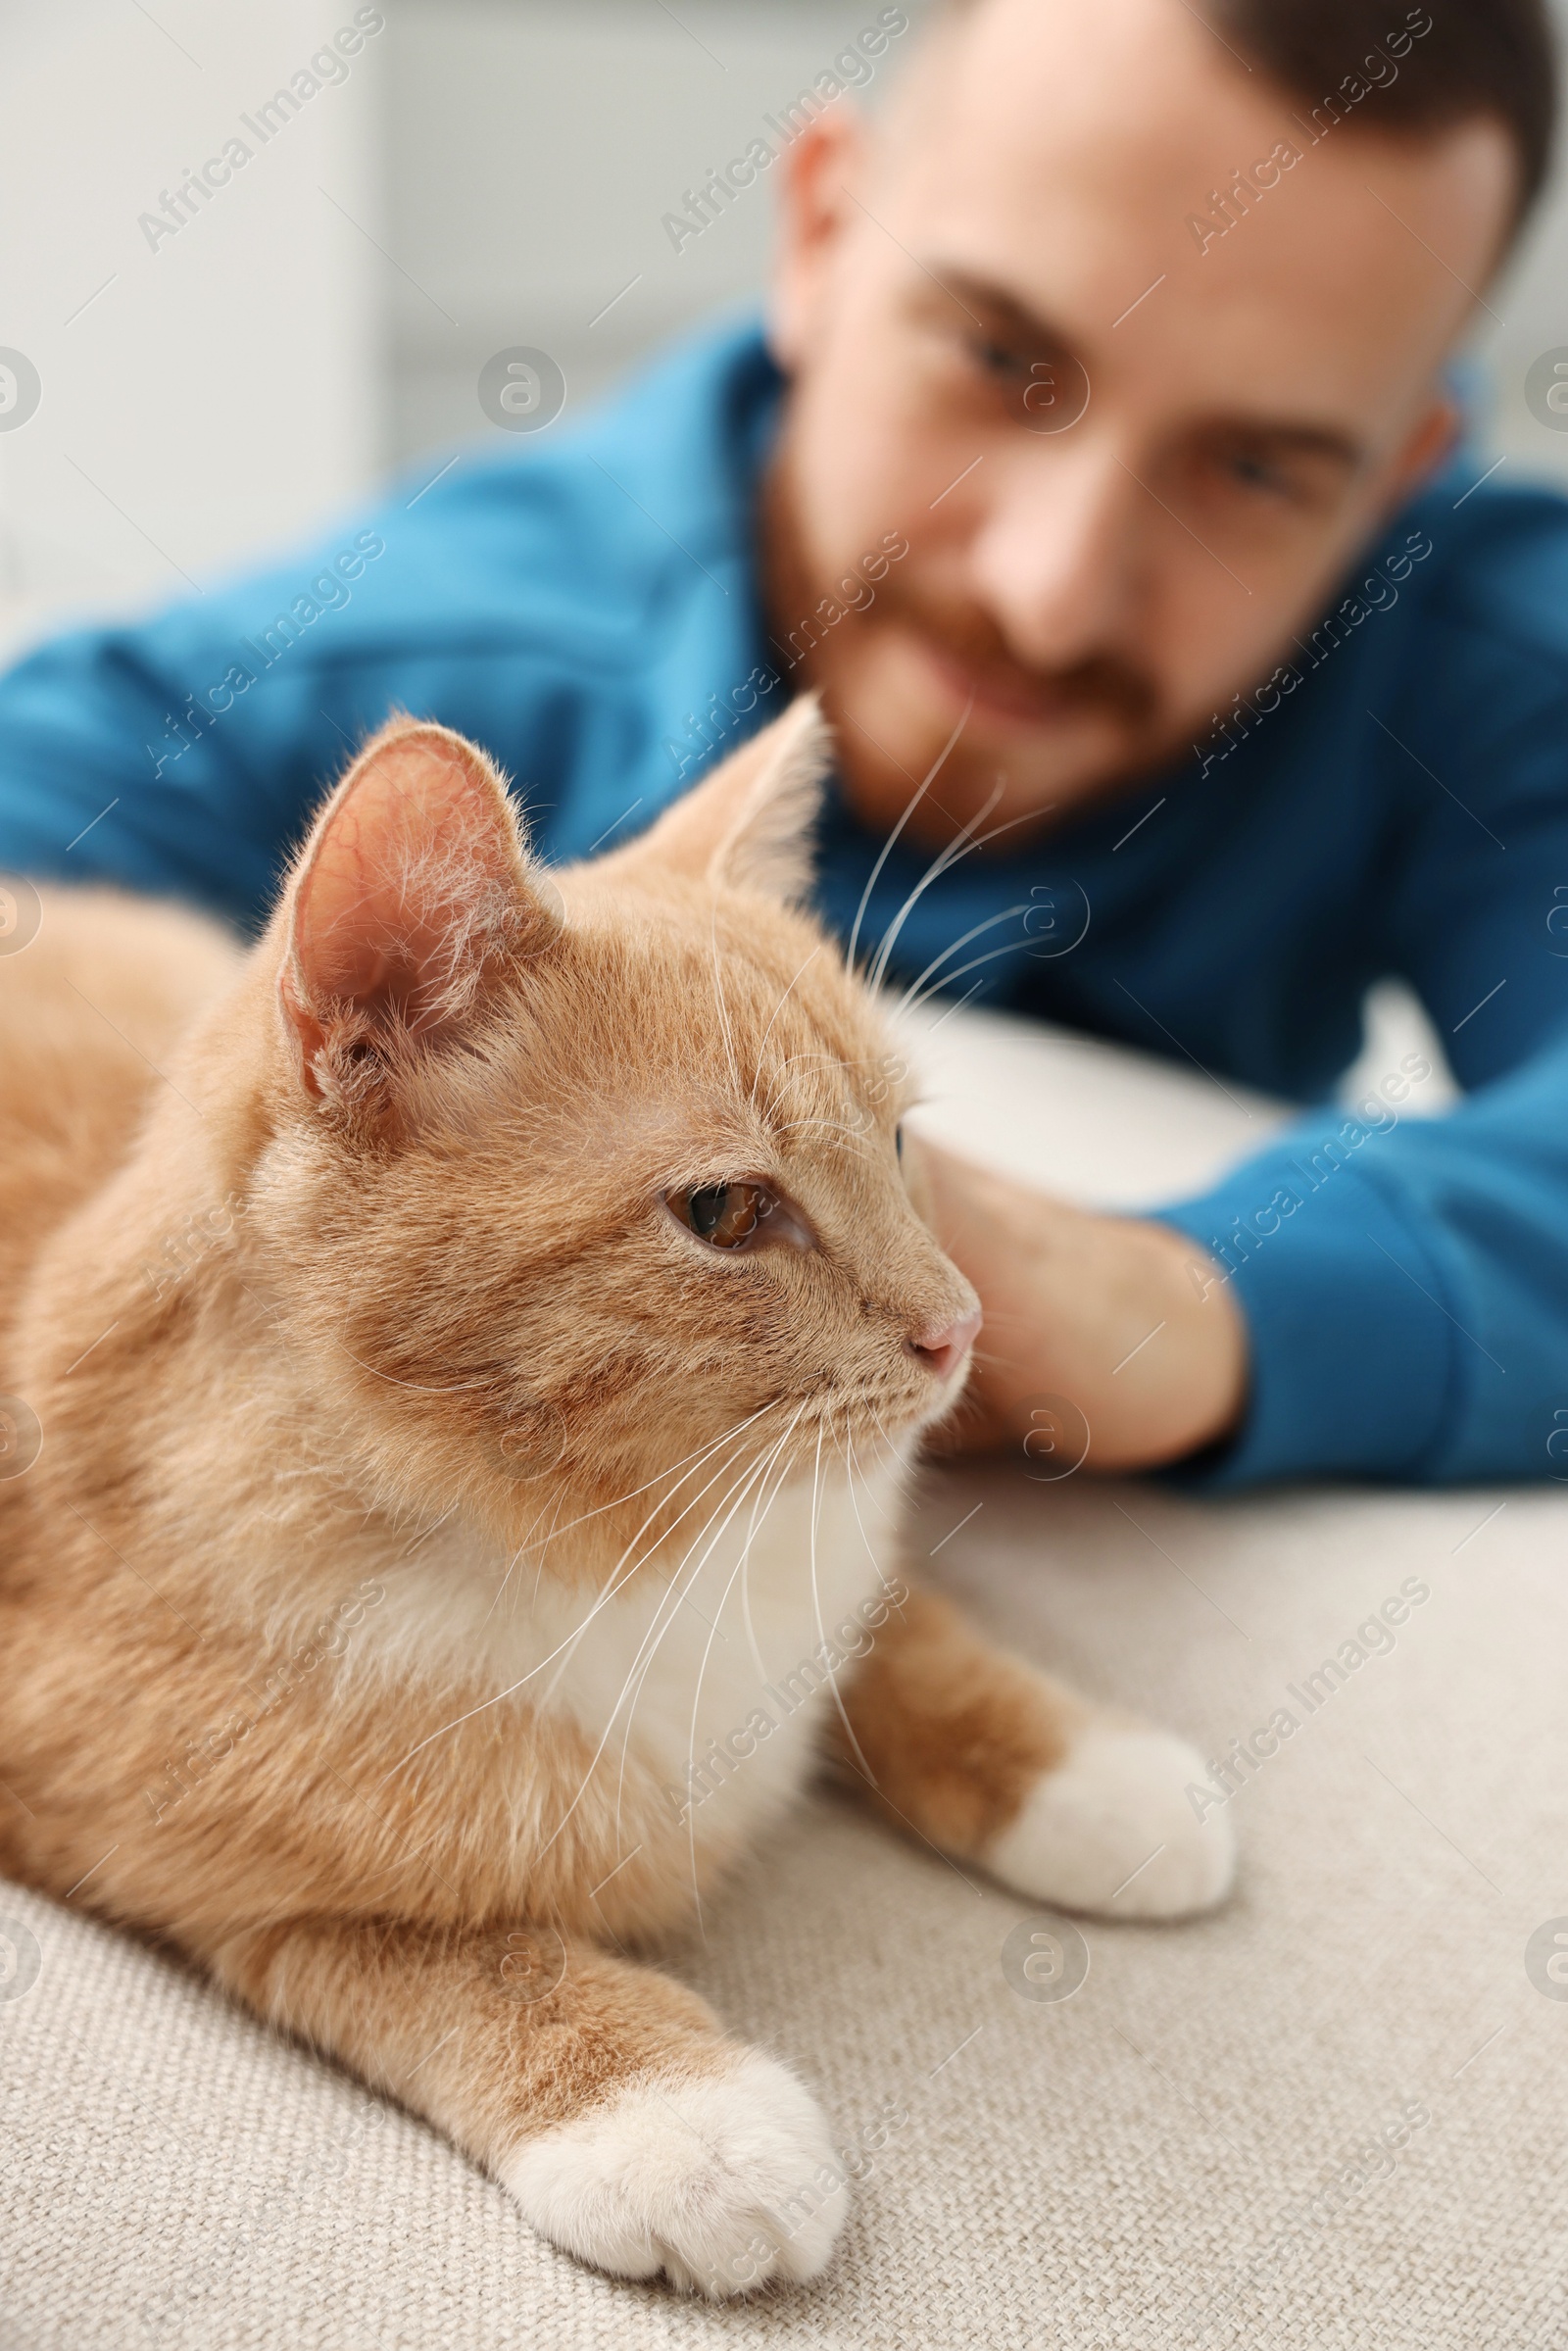
[[[1415,1058],[1150,1220],[931,1154],[985,1434],[1554,1474],[1568,505],[1441,470],[1552,71],[1540,0],[950,5],[788,150],[766,346],[0,682],[0,865],[254,919],[390,705],[583,856],[816,684],[820,903],[903,983],[1321,1105],[1399,973],[1469,1089],[1408,1119]]]

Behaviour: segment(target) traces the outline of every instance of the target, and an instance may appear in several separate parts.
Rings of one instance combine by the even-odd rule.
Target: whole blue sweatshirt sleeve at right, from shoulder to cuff
[[[1465,1091],[1413,1114],[1406,1056],[1161,1211],[1248,1328],[1244,1422],[1180,1472],[1213,1491],[1568,1479],[1568,541],[1559,501],[1479,505],[1347,738],[1385,839],[1359,922]]]

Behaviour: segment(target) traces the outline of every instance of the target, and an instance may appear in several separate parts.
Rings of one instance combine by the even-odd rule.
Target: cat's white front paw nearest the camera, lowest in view
[[[642,2074],[501,2165],[524,2217],[618,2278],[691,2295],[816,2278],[849,2210],[811,2092],[759,2050],[722,2074]]]

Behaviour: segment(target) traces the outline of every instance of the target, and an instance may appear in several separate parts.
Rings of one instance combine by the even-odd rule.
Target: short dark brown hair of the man
[[[1556,136],[1556,40],[1547,0],[1204,0],[1204,16],[1248,63],[1307,106],[1345,103],[1378,80],[1354,122],[1420,136],[1490,115],[1519,165],[1514,223],[1540,195]]]

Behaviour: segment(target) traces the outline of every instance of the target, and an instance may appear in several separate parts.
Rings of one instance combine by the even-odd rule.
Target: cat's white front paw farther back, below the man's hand
[[[1199,1822],[1187,1784],[1208,1782],[1168,1730],[1100,1723],[1044,1773],[985,1855],[1018,1893],[1107,1918],[1182,1918],[1229,1888],[1229,1817]]]

